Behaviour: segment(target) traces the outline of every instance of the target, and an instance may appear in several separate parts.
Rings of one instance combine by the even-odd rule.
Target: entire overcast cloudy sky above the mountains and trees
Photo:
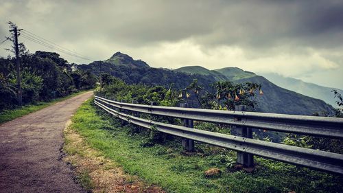
[[[2,0],[8,21],[91,60],[115,52],[151,67],[239,67],[343,88],[343,1],[42,1]],[[24,34],[25,35],[25,34]],[[23,36],[30,52],[57,52]],[[0,56],[10,54],[0,45]]]

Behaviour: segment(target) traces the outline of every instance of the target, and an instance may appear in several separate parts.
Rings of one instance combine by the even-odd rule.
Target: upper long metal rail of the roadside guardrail
[[[343,139],[343,119],[335,117],[151,106],[117,102],[98,96],[95,96],[95,98],[116,108],[136,111],[139,113],[149,113],[152,115],[178,117],[202,122],[230,124],[233,126],[246,126],[286,133],[298,133],[303,135]],[[239,118],[241,121],[237,121],[235,118]]]

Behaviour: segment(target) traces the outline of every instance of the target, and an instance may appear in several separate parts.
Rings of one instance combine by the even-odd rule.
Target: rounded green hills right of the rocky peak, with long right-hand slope
[[[285,113],[296,115],[312,115],[315,112],[327,111],[332,112],[331,106],[324,101],[315,98],[310,98],[307,95],[302,95],[294,91],[289,91],[276,86],[273,82],[263,76],[244,71],[237,67],[226,67],[222,69],[215,69],[217,73],[206,69],[204,67],[189,66],[176,69],[185,73],[200,73],[220,77],[224,80],[229,80],[237,83],[255,82],[262,85],[263,95],[257,96],[257,111],[266,113]],[[218,75],[219,73],[219,75]],[[220,76],[221,75],[221,76]],[[216,78],[218,79],[218,78]]]

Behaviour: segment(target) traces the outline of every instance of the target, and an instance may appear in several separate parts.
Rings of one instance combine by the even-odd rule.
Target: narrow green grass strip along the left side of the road
[[[91,90],[89,90],[91,91]],[[37,104],[28,104],[23,106],[20,109],[12,109],[12,110],[5,110],[0,113],[0,124],[4,122],[8,122],[10,120],[14,120],[18,117],[22,117],[23,115],[27,115],[29,113],[33,113],[35,111],[39,111],[40,109],[44,109],[47,106],[50,106],[51,104],[55,104],[57,102],[61,102],[62,100],[66,100],[69,98],[74,97],[75,95],[79,95],[81,93],[85,93],[87,91],[80,91],[78,93],[73,93],[71,95],[68,95],[64,98],[56,98],[55,100],[52,100],[51,102],[37,102]]]

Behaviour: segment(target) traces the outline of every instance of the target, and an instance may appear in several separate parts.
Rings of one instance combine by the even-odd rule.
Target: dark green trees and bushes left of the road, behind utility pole
[[[94,87],[96,78],[90,72],[71,71],[71,65],[56,53],[37,51],[29,54],[21,47],[21,87],[23,104],[35,104],[65,97],[80,89]],[[17,104],[15,58],[0,58],[0,111]]]

